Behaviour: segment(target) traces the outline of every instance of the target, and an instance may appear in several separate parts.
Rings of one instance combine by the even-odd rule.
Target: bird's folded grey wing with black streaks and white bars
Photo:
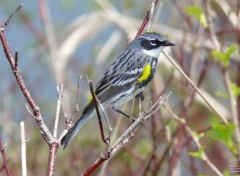
[[[95,93],[102,103],[128,89],[141,77],[147,59],[140,57],[141,54],[129,54],[125,51],[109,66],[95,89]]]

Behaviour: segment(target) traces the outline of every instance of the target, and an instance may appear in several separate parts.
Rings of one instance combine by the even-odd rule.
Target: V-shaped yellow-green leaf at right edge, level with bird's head
[[[222,66],[224,68],[227,68],[230,64],[230,57],[231,55],[237,51],[238,46],[237,45],[231,45],[229,48],[226,49],[225,52],[221,52],[218,50],[213,50],[212,55],[221,62]]]

